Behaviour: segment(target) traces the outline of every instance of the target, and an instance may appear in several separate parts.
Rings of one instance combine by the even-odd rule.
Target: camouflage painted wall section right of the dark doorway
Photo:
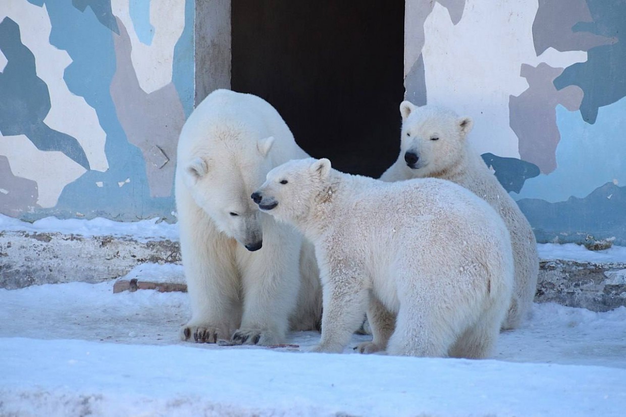
[[[407,0],[405,48],[538,239],[626,245],[626,0]]]

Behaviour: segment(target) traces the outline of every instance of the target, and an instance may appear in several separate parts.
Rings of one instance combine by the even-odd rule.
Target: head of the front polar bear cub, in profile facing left
[[[310,214],[316,198],[329,186],[331,162],[326,158],[291,160],[267,173],[252,200],[275,219],[297,223]]]

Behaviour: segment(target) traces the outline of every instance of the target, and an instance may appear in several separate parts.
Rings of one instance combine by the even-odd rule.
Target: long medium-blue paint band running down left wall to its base
[[[115,73],[115,49],[112,36],[118,36],[100,24],[95,14],[81,13],[67,1],[46,1],[52,22],[50,43],[68,52],[73,62],[66,68],[64,80],[69,90],[85,98],[98,115],[106,133],[106,172],[89,171],[68,184],[53,209],[23,214],[24,219],[45,215],[61,218],[106,217],[115,220],[138,220],[163,217],[173,220],[173,197],[152,198],[145,173],[145,160],[139,148],[131,145],[118,121],[109,91]],[[130,178],[119,187],[118,182]],[[103,182],[97,187],[96,182]]]

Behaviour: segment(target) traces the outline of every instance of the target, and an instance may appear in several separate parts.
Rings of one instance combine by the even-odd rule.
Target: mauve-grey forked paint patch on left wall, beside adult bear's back
[[[172,195],[178,135],[185,113],[173,83],[147,94],[141,90],[130,58],[126,28],[118,21],[113,35],[117,69],[111,80],[111,98],[128,142],[141,149],[151,197]]]

